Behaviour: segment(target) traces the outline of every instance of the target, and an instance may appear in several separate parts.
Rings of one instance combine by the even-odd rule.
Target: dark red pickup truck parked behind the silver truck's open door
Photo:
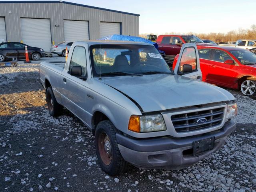
[[[196,43],[197,47],[200,46],[214,46],[216,44],[204,43],[200,38],[194,35],[159,35],[156,43],[158,49],[164,52],[164,59],[170,67],[174,57],[180,53],[182,44]]]

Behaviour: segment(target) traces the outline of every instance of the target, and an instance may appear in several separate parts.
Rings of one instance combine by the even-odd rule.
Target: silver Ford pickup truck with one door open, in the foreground
[[[200,74],[191,43],[182,45],[174,72],[154,46],[138,42],[74,42],[66,64],[40,64],[50,115],[63,106],[75,114],[112,176],[128,163],[182,169],[224,144],[236,127],[235,98]]]

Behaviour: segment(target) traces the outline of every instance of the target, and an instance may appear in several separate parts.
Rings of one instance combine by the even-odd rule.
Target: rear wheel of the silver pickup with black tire
[[[46,90],[46,102],[48,106],[48,110],[51,116],[57,117],[63,111],[63,106],[58,104],[56,98],[53,94],[52,87],[48,87]]]

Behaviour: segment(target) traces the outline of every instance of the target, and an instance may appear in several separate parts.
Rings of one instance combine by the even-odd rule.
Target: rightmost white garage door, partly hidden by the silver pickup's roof
[[[100,38],[114,34],[120,35],[120,23],[100,23]]]

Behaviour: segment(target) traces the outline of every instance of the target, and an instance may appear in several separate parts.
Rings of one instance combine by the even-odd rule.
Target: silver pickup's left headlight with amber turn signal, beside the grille
[[[166,130],[161,114],[131,116],[128,129],[134,132],[153,132]]]

